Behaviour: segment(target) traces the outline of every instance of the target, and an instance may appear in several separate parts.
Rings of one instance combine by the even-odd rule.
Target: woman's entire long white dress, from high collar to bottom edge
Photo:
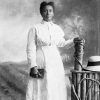
[[[53,22],[35,25],[30,29],[27,43],[29,67],[45,68],[43,79],[29,77],[26,100],[67,100],[65,72],[57,47],[70,45],[65,41],[64,32]]]

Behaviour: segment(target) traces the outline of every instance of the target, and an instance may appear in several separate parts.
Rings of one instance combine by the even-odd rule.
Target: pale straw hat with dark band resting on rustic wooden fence
[[[100,71],[100,56],[89,57],[86,70],[90,71]]]

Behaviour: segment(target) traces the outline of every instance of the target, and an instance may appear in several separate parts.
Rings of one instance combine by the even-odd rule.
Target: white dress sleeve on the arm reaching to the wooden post
[[[70,48],[73,46],[73,38],[72,39],[68,39],[68,40],[65,40],[64,38],[64,32],[63,30],[59,27],[59,35],[57,36],[58,37],[58,43],[57,43],[57,46],[58,47],[64,47],[66,46],[67,48]]]

